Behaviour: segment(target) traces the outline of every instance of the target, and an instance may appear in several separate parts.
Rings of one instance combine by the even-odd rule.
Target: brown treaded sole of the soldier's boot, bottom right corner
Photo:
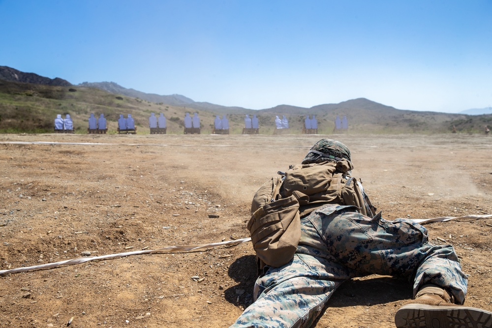
[[[468,306],[411,303],[395,315],[397,328],[490,328],[492,313]]]

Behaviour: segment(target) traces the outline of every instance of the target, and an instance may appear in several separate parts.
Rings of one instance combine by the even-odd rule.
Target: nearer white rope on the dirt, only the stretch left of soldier
[[[149,250],[142,250],[142,251],[132,251],[132,252],[119,253],[119,254],[79,257],[79,258],[72,259],[72,260],[65,260],[65,261],[60,261],[60,262],[41,264],[41,265],[32,266],[32,267],[15,268],[15,269],[9,269],[9,270],[0,270],[0,275],[6,275],[6,274],[9,274],[9,273],[34,271],[34,270],[39,270],[39,269],[56,268],[56,267],[60,267],[60,266],[69,266],[69,265],[73,265],[73,264],[82,264],[82,263],[89,262],[89,261],[94,261],[94,260],[116,259],[116,258],[119,258],[119,257],[125,257],[125,256],[130,256],[130,255],[140,255],[140,254],[150,254],[150,253],[186,252],[186,251],[193,251],[193,250],[202,249],[202,248],[217,247],[217,246],[222,246],[222,245],[239,245],[239,244],[242,244],[243,242],[247,242],[247,241],[251,241],[251,238],[243,238],[243,239],[236,239],[236,240],[229,240],[229,241],[213,242],[213,243],[210,243],[210,244],[177,245],[177,246],[169,246],[169,247],[164,247],[164,248],[159,248],[159,249],[149,249]]]

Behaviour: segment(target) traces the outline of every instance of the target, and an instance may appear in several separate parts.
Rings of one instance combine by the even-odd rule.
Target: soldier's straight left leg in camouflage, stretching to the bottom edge
[[[291,263],[269,268],[258,278],[256,300],[230,328],[310,327],[343,280],[324,270],[319,259],[296,254]]]

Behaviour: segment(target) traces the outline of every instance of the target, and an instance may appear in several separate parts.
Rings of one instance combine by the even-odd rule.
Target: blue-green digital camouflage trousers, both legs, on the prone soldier
[[[431,245],[426,228],[407,219],[370,218],[351,206],[323,206],[301,219],[294,258],[265,268],[255,301],[231,328],[310,327],[345,280],[370,274],[440,286],[462,304],[467,278],[451,245]]]

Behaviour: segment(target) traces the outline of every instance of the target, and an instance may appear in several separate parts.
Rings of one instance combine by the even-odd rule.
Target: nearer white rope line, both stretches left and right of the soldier
[[[492,217],[492,214],[487,214],[487,215],[464,215],[464,216],[441,216],[441,217],[433,217],[430,219],[410,219],[416,223],[424,224],[424,223],[431,223],[431,222],[447,222],[450,220],[459,220],[459,219],[485,219]],[[48,269],[48,268],[57,268],[61,266],[69,266],[73,264],[82,264],[86,263],[89,261],[95,261],[95,260],[104,260],[104,259],[116,259],[119,257],[125,257],[125,256],[130,256],[130,255],[141,255],[141,254],[151,254],[151,253],[174,253],[174,252],[189,252],[189,251],[194,251],[197,249],[203,249],[203,248],[212,248],[212,247],[217,247],[217,246],[223,246],[223,245],[239,245],[244,242],[251,241],[251,238],[243,238],[243,239],[236,239],[236,240],[229,240],[229,241],[221,241],[221,242],[213,242],[210,244],[198,244],[198,245],[176,245],[176,246],[168,246],[168,247],[163,247],[163,248],[158,248],[158,249],[149,249],[149,250],[142,250],[142,251],[132,251],[132,252],[125,252],[125,253],[119,253],[119,254],[109,254],[109,255],[101,255],[101,256],[88,256],[88,257],[79,257],[76,259],[72,260],[65,260],[65,261],[60,261],[60,262],[54,262],[54,263],[47,263],[47,264],[41,264],[38,266],[32,266],[32,267],[23,267],[23,268],[14,268],[14,269],[8,269],[8,270],[0,270],[0,275],[6,275],[10,273],[18,273],[18,272],[27,272],[27,271],[34,271],[34,270],[40,270],[40,269]]]

